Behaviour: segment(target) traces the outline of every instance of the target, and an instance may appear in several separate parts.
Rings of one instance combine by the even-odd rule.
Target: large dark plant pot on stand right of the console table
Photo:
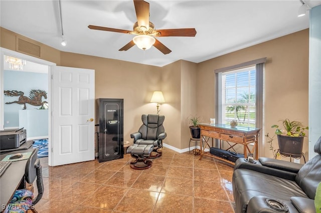
[[[301,157],[303,149],[303,136],[291,137],[286,135],[277,135],[280,154],[283,156]]]

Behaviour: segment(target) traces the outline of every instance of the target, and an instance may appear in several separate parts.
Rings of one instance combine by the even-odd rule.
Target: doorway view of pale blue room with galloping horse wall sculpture
[[[27,140],[48,138],[48,65],[4,55],[4,94],[4,129],[24,127]]]

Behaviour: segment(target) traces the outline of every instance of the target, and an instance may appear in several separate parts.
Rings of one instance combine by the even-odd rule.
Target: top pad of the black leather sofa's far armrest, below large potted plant
[[[282,169],[293,173],[297,173],[300,170],[300,168],[303,166],[302,164],[299,164],[299,163],[289,162],[289,161],[279,160],[274,158],[268,158],[268,157],[260,157],[259,161],[264,166],[276,168],[276,169]]]

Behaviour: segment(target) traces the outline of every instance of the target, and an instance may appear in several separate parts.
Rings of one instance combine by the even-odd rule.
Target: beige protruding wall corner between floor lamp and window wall
[[[166,143],[178,149],[189,147],[188,117],[197,114],[197,64],[179,60],[162,67],[162,90],[166,103],[162,105],[167,132]]]

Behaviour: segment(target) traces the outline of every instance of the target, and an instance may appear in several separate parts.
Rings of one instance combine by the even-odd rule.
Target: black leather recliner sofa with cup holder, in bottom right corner
[[[317,155],[304,165],[267,157],[256,163],[237,159],[232,180],[236,212],[315,212],[315,191],[321,182],[321,137],[314,151]]]

